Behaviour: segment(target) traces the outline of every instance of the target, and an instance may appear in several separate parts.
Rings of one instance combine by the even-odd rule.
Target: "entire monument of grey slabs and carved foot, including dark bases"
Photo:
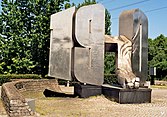
[[[119,36],[114,38],[104,35],[105,8],[100,4],[53,14],[50,29],[49,76],[77,81],[74,93],[80,97],[101,93],[113,97],[126,90],[123,103],[151,101],[151,90],[140,88],[147,79],[148,53],[148,21],[142,11],[124,11],[119,18]],[[103,85],[104,49],[116,53],[119,90]],[[136,94],[134,101],[127,101],[128,91],[129,99]]]

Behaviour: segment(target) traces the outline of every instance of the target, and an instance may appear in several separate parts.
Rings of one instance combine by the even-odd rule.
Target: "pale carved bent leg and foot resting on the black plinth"
[[[118,82],[123,88],[138,88],[139,78],[132,71],[132,41],[123,35],[119,37],[105,35],[105,43],[116,44],[116,75]],[[109,48],[108,51],[112,52],[112,49]]]

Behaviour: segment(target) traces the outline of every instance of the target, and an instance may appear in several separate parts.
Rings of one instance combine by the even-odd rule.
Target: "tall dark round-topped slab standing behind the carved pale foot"
[[[119,35],[132,40],[132,69],[140,78],[140,86],[147,79],[148,20],[139,9],[123,11],[119,17]]]

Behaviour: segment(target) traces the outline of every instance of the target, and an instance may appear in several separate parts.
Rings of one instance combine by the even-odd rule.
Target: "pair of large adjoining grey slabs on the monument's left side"
[[[105,8],[95,4],[53,14],[50,29],[49,76],[102,85]]]

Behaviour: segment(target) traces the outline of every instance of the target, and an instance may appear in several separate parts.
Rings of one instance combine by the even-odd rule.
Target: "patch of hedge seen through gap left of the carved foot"
[[[118,84],[118,79],[115,74],[105,74],[104,75],[104,84]]]

